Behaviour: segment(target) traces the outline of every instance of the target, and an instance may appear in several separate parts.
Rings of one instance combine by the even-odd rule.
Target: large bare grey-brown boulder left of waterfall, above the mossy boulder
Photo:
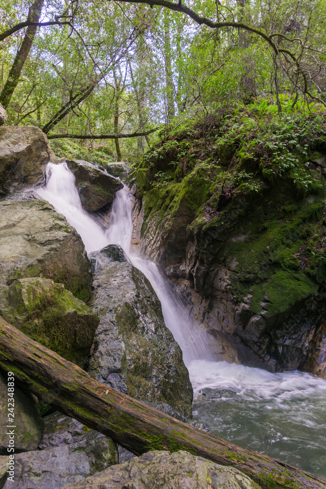
[[[91,275],[84,244],[64,216],[42,200],[0,202],[0,284],[42,277],[84,302]]]

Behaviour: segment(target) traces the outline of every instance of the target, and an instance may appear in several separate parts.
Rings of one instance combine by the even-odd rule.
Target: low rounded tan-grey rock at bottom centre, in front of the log
[[[249,477],[188,452],[152,451],[64,489],[259,489]]]

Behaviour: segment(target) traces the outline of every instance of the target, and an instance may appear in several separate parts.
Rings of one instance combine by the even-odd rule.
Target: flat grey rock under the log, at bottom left
[[[60,489],[118,463],[111,438],[60,413],[44,421],[40,449],[15,455],[15,482],[5,489]]]

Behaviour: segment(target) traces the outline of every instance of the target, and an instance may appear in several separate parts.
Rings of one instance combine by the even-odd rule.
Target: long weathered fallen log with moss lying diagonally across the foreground
[[[264,489],[326,488],[324,479],[228,443],[101,384],[1,317],[0,370],[13,372],[24,389],[135,454],[182,449],[237,467]]]

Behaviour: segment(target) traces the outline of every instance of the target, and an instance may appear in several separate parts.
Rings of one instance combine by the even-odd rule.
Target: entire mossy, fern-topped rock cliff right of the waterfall
[[[325,128],[321,113],[220,111],[176,128],[135,171],[142,247],[200,294],[227,359],[283,370],[323,354]],[[325,375],[322,363],[309,369]]]

